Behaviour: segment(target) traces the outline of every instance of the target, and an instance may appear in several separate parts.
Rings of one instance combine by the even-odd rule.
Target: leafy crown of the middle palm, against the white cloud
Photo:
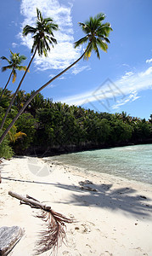
[[[23,35],[27,36],[29,33],[33,34],[34,43],[31,49],[33,53],[34,49],[38,50],[38,55],[44,54],[47,56],[47,51],[50,50],[49,44],[57,44],[56,39],[53,36],[53,30],[58,30],[58,25],[53,23],[51,18],[42,18],[42,13],[37,9],[37,26],[26,25],[23,28]],[[49,44],[48,44],[49,43]]]

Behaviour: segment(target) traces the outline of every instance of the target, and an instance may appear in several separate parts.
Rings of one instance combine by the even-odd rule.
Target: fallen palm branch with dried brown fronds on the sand
[[[11,195],[20,200],[21,204],[29,205],[32,208],[41,209],[41,213],[37,214],[37,218],[41,218],[45,222],[45,229],[40,231],[39,239],[37,241],[36,255],[55,249],[61,246],[62,241],[66,241],[65,235],[65,223],[74,222],[73,218],[66,218],[59,212],[54,212],[51,207],[47,207],[40,201],[37,201],[33,197],[26,195],[18,195],[12,191],[8,192]]]

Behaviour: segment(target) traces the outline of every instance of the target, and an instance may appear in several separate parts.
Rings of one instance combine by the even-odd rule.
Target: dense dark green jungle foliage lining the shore
[[[18,92],[3,130],[31,93],[25,93],[24,90]],[[12,92],[6,90],[1,99],[0,123],[12,96]],[[127,115],[125,112],[98,113],[44,99],[39,93],[25,108],[25,112],[21,114],[0,145],[0,157],[11,157],[13,150],[14,154],[43,156],[150,142],[152,142],[152,115],[146,121]]]

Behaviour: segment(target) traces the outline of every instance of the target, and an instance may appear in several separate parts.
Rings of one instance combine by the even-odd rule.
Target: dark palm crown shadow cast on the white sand
[[[75,191],[70,201],[62,201],[65,204],[85,207],[101,207],[113,211],[121,210],[138,218],[150,217],[152,206],[150,199],[144,195],[137,195],[135,189],[113,189],[113,184],[80,183],[80,186],[56,184],[61,189]],[[81,193],[80,193],[81,192]]]

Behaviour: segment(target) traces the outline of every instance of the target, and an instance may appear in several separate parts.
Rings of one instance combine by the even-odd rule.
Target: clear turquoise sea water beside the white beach
[[[83,151],[51,158],[84,168],[152,184],[152,144]]]

